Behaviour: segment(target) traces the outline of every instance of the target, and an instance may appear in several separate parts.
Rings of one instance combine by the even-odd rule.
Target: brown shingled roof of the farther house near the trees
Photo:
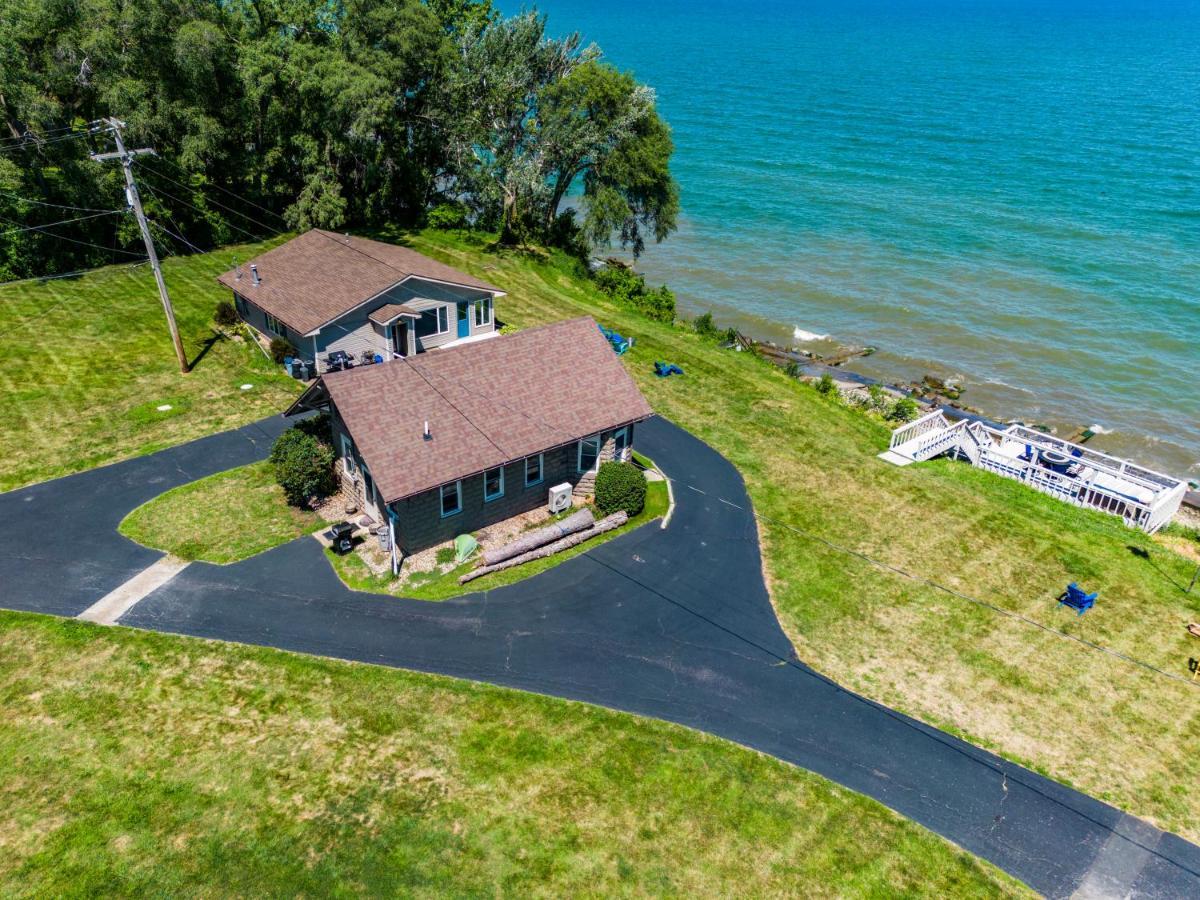
[[[262,278],[257,287],[251,264]],[[230,270],[217,281],[302,335],[408,278],[504,293],[415,250],[320,229],[266,251],[240,270],[240,278]]]

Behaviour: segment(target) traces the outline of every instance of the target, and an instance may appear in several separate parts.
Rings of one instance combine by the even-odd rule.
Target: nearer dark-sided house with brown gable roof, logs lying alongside
[[[590,317],[329,372],[287,415],[310,409],[329,410],[343,481],[403,554],[535,509],[552,485],[588,492],[653,415]]]

